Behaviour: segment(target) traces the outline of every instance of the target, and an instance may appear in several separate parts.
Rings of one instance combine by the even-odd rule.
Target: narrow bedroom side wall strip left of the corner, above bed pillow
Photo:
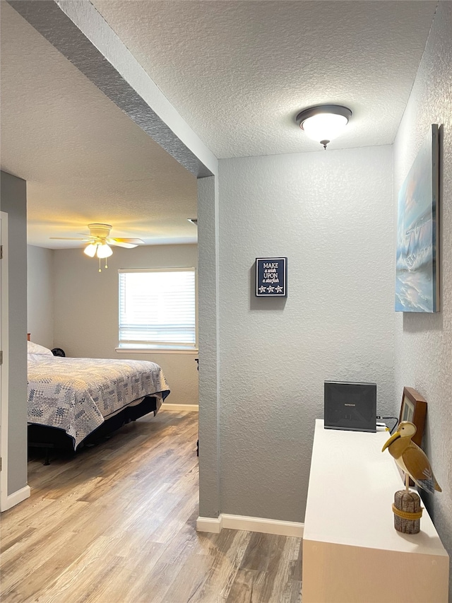
[[[54,252],[43,247],[27,247],[27,327],[31,341],[54,347]]]

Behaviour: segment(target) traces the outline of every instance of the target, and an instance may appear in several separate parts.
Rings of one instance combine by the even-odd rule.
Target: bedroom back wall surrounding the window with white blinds
[[[104,262],[105,263],[105,262]],[[54,346],[66,356],[136,358],[159,364],[169,404],[198,404],[196,353],[118,354],[118,269],[197,267],[197,245],[114,247],[108,269],[82,249],[54,251]]]

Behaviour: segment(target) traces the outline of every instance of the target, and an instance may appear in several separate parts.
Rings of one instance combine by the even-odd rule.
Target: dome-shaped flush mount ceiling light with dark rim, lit
[[[317,105],[299,112],[296,121],[310,139],[326,150],[326,145],[345,129],[350,117],[351,110],[343,105]]]

